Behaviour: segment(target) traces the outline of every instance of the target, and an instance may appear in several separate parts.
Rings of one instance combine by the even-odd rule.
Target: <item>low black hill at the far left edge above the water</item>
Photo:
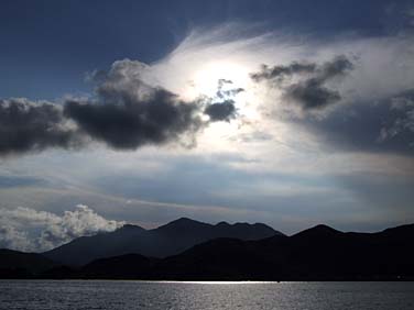
[[[41,254],[0,248],[0,278],[30,277],[54,266]]]

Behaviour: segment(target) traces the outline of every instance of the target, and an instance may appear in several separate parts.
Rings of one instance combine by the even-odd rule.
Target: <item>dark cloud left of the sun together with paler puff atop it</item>
[[[201,128],[199,107],[143,81],[149,67],[119,60],[99,74],[95,101],[67,101],[64,115],[96,141],[117,150],[178,141]]]

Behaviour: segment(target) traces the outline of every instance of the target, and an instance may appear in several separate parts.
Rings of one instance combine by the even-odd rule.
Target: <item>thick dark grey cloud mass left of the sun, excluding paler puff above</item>
[[[119,150],[171,142],[201,126],[197,104],[183,102],[166,90],[154,89],[145,99],[115,96],[105,96],[103,102],[67,101],[64,114],[94,140]]]

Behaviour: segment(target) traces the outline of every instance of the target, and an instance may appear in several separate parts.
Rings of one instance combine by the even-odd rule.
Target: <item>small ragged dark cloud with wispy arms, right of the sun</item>
[[[341,99],[337,90],[326,86],[330,80],[345,76],[353,67],[346,56],[337,56],[322,65],[293,63],[288,66],[263,66],[261,71],[251,74],[254,81],[269,81],[282,89],[286,101],[304,110],[320,109]]]

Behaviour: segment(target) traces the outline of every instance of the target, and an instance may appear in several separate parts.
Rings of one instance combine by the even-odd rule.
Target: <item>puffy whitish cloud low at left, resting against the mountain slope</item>
[[[43,252],[75,237],[113,231],[123,224],[107,220],[83,204],[63,215],[23,207],[0,209],[0,247]]]

